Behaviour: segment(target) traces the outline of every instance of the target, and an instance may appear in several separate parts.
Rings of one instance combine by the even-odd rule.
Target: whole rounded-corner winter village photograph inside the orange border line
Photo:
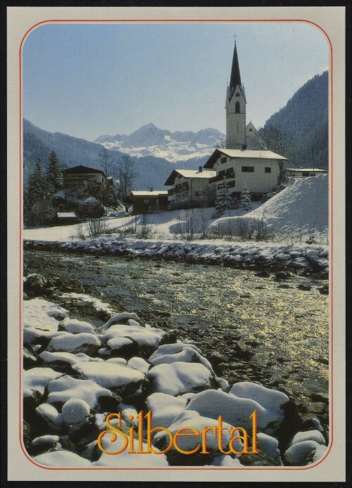
[[[23,446],[46,468],[313,466],[330,428],[327,41],[299,23],[149,27],[46,25],[24,44]],[[211,29],[223,50],[210,49]],[[168,75],[153,104],[163,127],[170,116],[181,129],[132,120],[129,135],[68,135],[84,127],[80,111],[99,134],[97,87],[108,82],[97,39],[113,70],[108,43],[121,33],[116,80],[129,35],[145,52],[115,99],[134,91],[125,110],[142,120],[146,80]],[[96,58],[83,64],[88,39]],[[315,66],[307,58],[319,50]],[[52,126],[36,115],[40,63],[73,129],[53,129],[50,106]],[[65,93],[79,76],[76,122]],[[181,120],[187,77],[196,131]],[[207,110],[225,130],[201,129]]]

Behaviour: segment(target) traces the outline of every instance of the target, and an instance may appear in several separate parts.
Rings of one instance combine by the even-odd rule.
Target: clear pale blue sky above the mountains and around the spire
[[[307,23],[46,24],[23,46],[23,115],[87,140],[149,122],[225,132],[234,32],[257,128],[328,68],[327,39]]]

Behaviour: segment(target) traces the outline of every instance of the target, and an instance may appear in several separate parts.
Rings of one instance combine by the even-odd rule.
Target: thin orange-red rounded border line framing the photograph
[[[306,467],[297,467],[297,466],[287,466],[287,467],[273,467],[273,468],[268,468],[268,467],[255,467],[255,468],[219,468],[219,467],[214,467],[214,468],[110,468],[110,467],[94,467],[94,468],[54,468],[54,467],[49,467],[49,466],[44,466],[37,464],[33,461],[33,459],[27,454],[27,451],[25,450],[25,447],[23,446],[23,428],[22,428],[22,409],[23,409],[23,399],[22,399],[22,364],[23,364],[23,332],[22,332],[22,304],[23,304],[23,288],[20,288],[20,374],[19,374],[19,380],[20,380],[20,447],[23,451],[23,454],[25,454],[25,457],[34,465],[38,466],[38,468],[46,469],[46,470],[225,470],[225,471],[242,471],[242,470],[308,470],[315,468],[318,466],[322,461],[327,458],[329,455],[329,452],[332,449],[332,444],[334,440],[334,375],[333,375],[333,367],[334,367],[334,353],[333,353],[333,302],[332,302],[332,297],[333,297],[333,220],[332,220],[332,215],[333,215],[333,118],[332,118],[332,113],[333,113],[333,49],[332,49],[332,41],[329,38],[329,35],[327,32],[320,27],[315,22],[312,22],[311,20],[306,20],[306,19],[52,19],[52,20],[43,20],[42,22],[36,23],[30,27],[30,29],[25,32],[23,35],[23,38],[20,42],[20,51],[19,51],[19,65],[20,65],[20,70],[19,70],[19,75],[20,75],[20,195],[19,195],[19,201],[20,201],[20,256],[19,256],[19,263],[20,263],[20,283],[22,283],[22,277],[23,277],[23,239],[22,239],[22,227],[23,227],[23,212],[22,212],[22,195],[23,195],[23,174],[22,174],[22,167],[23,167],[23,153],[22,153],[22,146],[23,146],[23,139],[22,139],[22,126],[23,126],[23,115],[22,115],[22,50],[23,50],[23,44],[25,41],[25,38],[27,35],[34,30],[36,27],[39,25],[47,24],[47,23],[135,23],[135,24],[145,24],[145,23],[260,23],[260,22],[281,22],[281,23],[288,23],[288,22],[301,22],[301,23],[308,23],[311,25],[314,25],[315,27],[318,27],[320,31],[325,34],[325,37],[327,38],[329,42],[329,47],[330,47],[330,70],[329,70],[329,79],[330,79],[330,103],[331,103],[331,108],[330,108],[330,131],[329,131],[329,136],[330,136],[330,154],[331,154],[331,159],[330,159],[330,214],[329,214],[329,234],[331,236],[331,243],[330,243],[330,252],[329,252],[329,276],[330,276],[330,281],[331,281],[331,291],[329,294],[329,302],[330,302],[330,327],[329,327],[329,333],[330,333],[330,361],[329,361],[329,368],[330,368],[330,380],[331,383],[329,385],[329,399],[331,399],[331,402],[329,402],[329,408],[331,409],[331,416],[329,416],[329,425],[331,426],[331,435],[329,436],[329,449],[327,451],[327,454],[318,461],[318,463],[315,463],[313,465],[308,465]]]

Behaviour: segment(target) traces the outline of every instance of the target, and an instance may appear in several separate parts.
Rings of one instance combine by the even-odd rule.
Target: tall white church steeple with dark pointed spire
[[[228,149],[241,149],[246,145],[246,96],[244,86],[241,84],[239,72],[239,59],[237,56],[236,40],[234,41],[234,54],[230,86],[226,94],[226,147]]]

